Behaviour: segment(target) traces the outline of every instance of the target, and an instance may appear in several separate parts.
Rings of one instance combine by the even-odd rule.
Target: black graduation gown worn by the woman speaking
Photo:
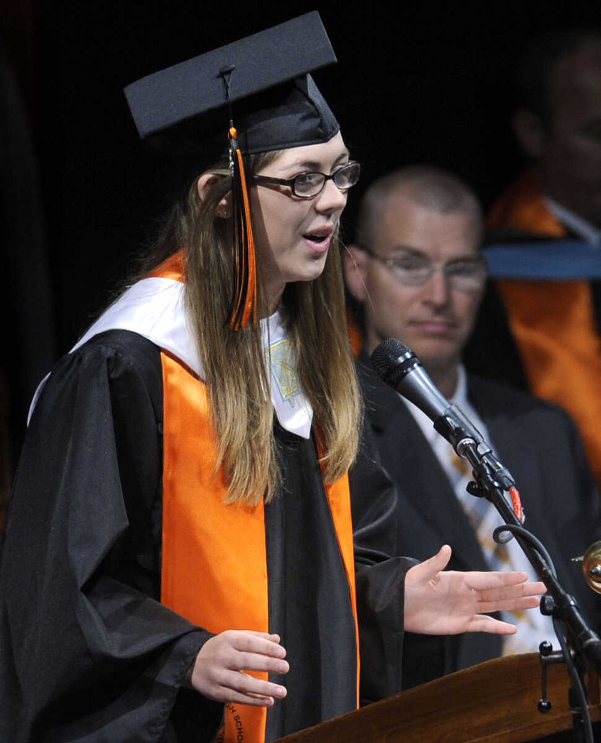
[[[209,632],[160,604],[160,350],[108,331],[63,358],[33,413],[0,562],[0,740],[202,742],[222,706],[181,689]],[[270,629],[290,661],[267,738],[354,706],[348,584],[313,439],[276,430],[266,508]],[[400,687],[394,491],[368,433],[351,474],[368,699]],[[386,591],[386,594],[384,594]],[[244,628],[240,628],[244,629]],[[397,658],[384,668],[386,658]],[[331,680],[334,682],[331,682]]]

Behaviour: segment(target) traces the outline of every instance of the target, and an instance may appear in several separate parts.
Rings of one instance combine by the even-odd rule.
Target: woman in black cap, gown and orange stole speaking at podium
[[[386,559],[337,250],[359,166],[307,74],[332,60],[312,13],[126,91],[163,145],[238,131],[39,392],[1,562],[2,740],[273,740],[357,707],[359,647],[373,701],[400,688],[403,629],[511,632],[480,612],[536,605],[523,574],[439,574],[449,548]]]

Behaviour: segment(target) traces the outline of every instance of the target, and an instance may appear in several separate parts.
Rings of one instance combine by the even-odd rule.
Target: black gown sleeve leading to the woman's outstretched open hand
[[[402,689],[405,576],[418,562],[395,557],[397,493],[380,464],[366,421],[357,461],[349,472],[349,484],[363,705]]]

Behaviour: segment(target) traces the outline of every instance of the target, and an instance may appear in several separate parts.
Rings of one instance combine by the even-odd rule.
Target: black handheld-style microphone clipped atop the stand
[[[435,430],[449,441],[458,456],[472,461],[470,454],[474,454],[503,490],[515,487],[516,481],[507,467],[498,461],[464,412],[444,397],[409,346],[389,338],[371,354],[371,363],[386,384],[428,416]]]

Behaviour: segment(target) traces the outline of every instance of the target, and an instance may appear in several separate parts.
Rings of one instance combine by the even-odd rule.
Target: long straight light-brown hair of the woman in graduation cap
[[[279,152],[250,155],[252,175]],[[204,198],[198,178],[173,207],[146,262],[151,270],[177,250],[186,251],[186,302],[204,368],[218,446],[216,468],[223,467],[228,502],[267,502],[276,493],[279,469],[273,436],[270,371],[261,331],[233,331],[228,323],[233,295],[231,220],[215,211],[231,189],[225,167],[215,175]],[[282,297],[287,338],[296,355],[299,380],[314,409],[314,424],[325,482],[340,478],[357,455],[360,393],[345,319],[340,250],[335,236],[322,275],[293,282]],[[257,259],[259,313],[267,308]]]

